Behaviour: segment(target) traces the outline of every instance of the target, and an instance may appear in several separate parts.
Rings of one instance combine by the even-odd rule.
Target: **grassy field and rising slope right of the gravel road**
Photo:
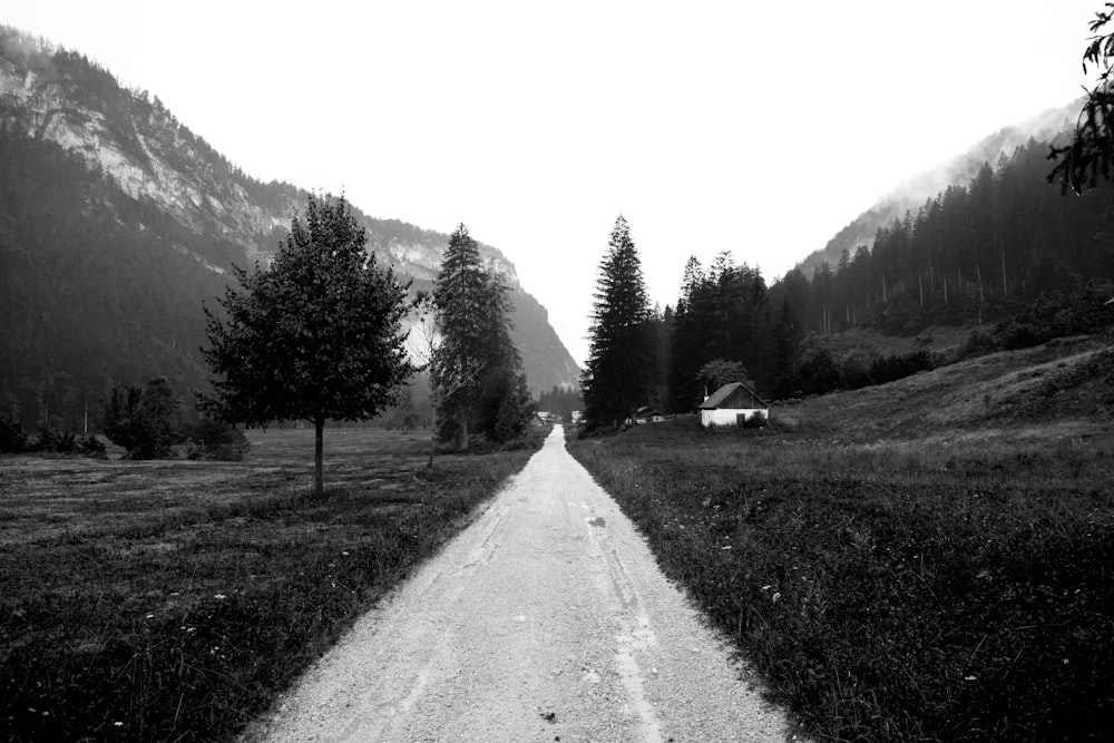
[[[1106,339],[570,449],[818,741],[1108,740]]]

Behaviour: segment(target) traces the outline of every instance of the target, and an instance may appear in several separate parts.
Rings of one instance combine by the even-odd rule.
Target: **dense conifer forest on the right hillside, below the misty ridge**
[[[981,323],[1022,311],[1043,292],[1114,281],[1114,187],[1065,196],[1046,176],[1048,144],[1030,139],[985,163],[916,214],[878,231],[871,250],[844,251],[811,281],[780,289],[805,331],[872,326],[912,335],[931,324]]]

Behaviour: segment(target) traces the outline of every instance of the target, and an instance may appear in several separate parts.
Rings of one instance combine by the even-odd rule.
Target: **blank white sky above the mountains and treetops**
[[[1098,0],[16,0],[264,180],[499,247],[583,363],[622,212],[653,301],[768,282],[895,185],[1068,102]]]

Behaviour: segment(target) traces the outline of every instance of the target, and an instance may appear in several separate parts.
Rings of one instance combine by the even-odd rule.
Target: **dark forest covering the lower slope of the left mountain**
[[[198,297],[226,281],[190,253],[227,265],[237,250],[53,143],[0,131],[0,412],[84,430],[117,383],[157,370],[175,389],[204,387]]]

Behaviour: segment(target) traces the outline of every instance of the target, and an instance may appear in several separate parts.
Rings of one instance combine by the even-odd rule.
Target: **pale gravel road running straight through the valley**
[[[559,428],[255,741],[784,741]]]

